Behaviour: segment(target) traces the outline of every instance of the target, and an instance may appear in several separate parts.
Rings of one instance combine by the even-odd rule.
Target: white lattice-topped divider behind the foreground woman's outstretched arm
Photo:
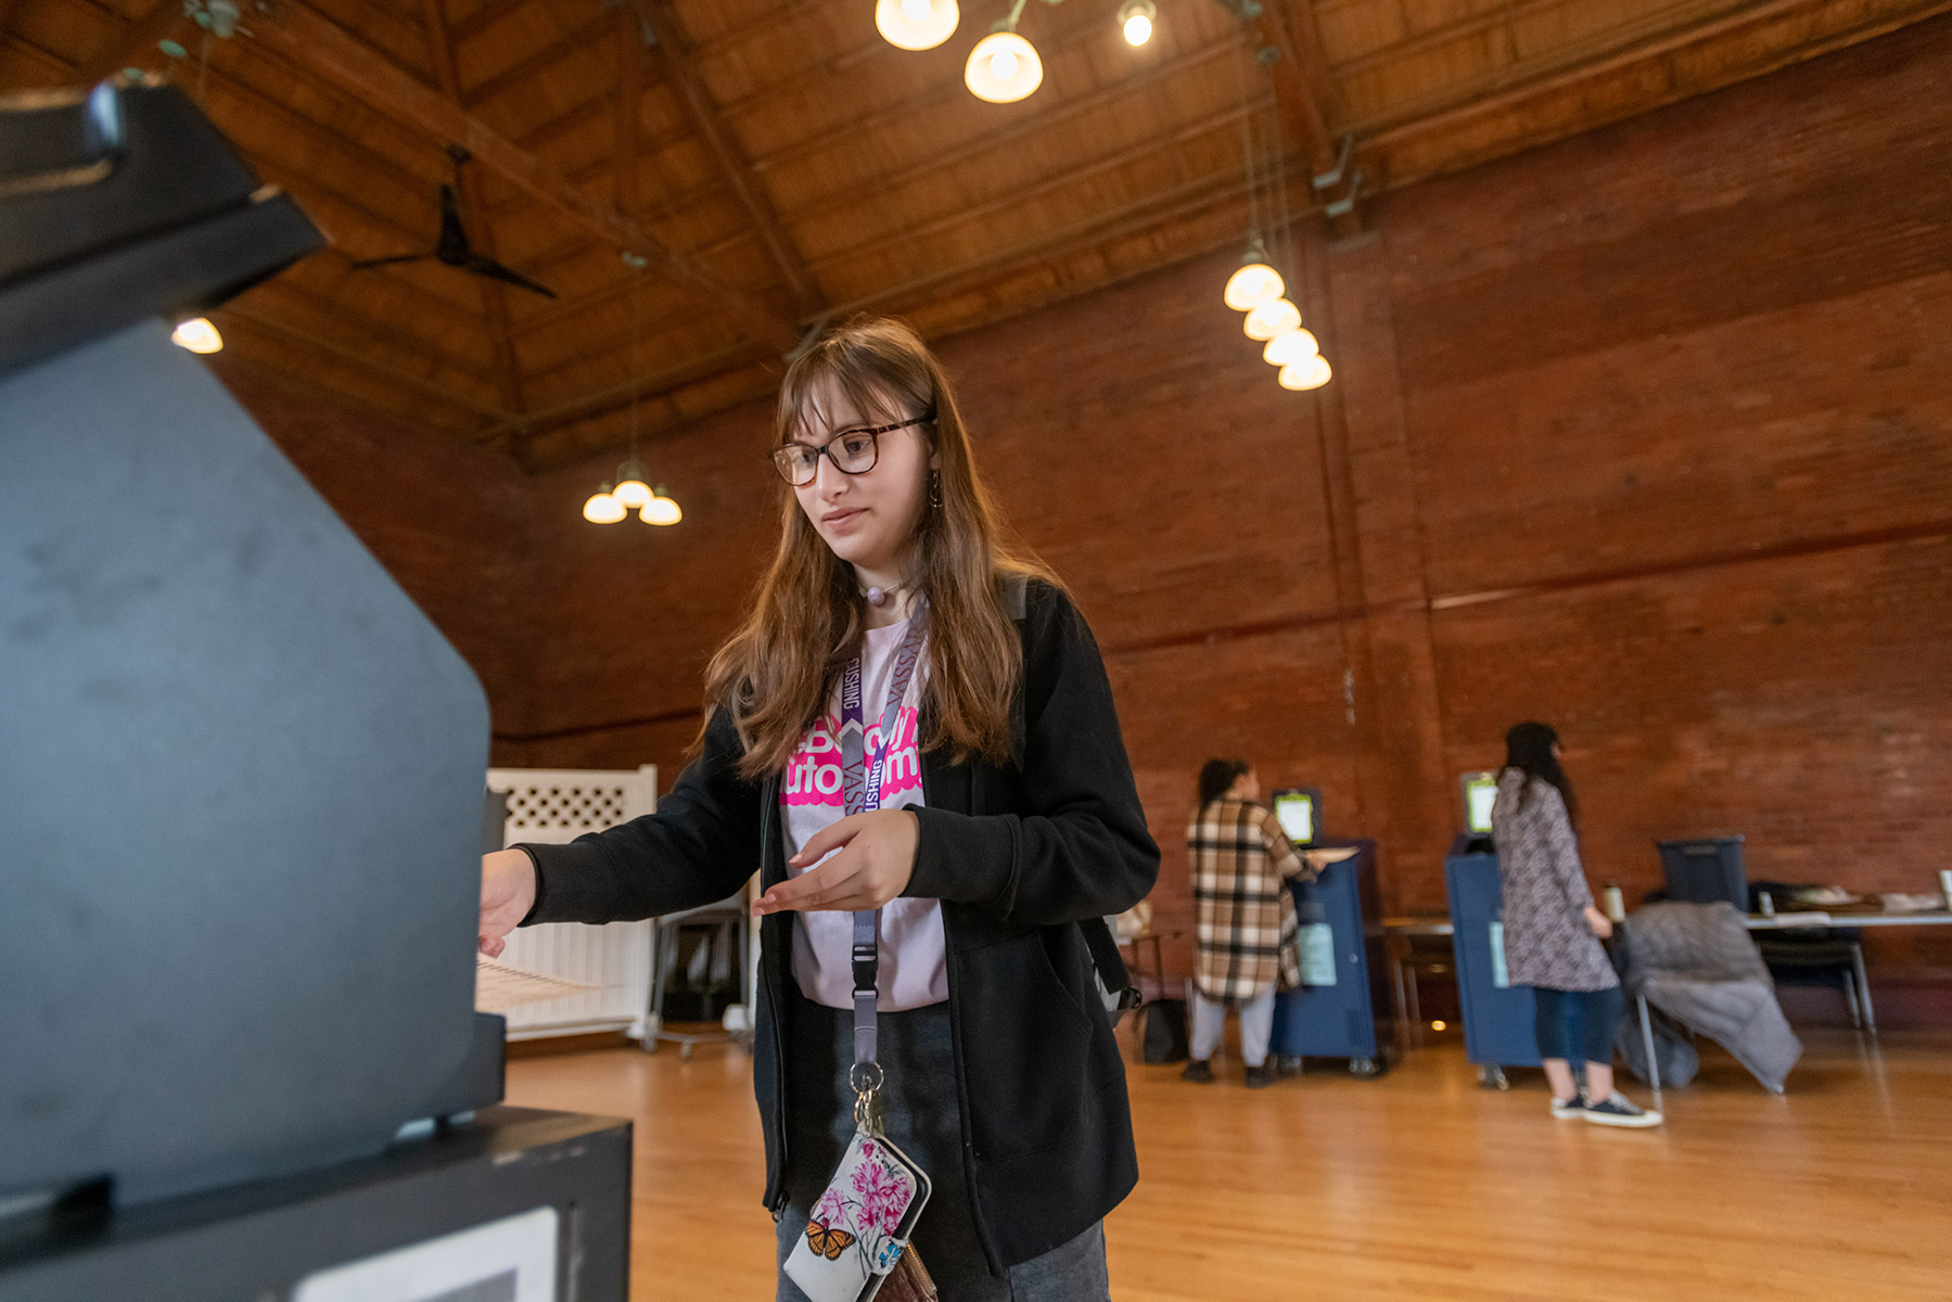
[[[658,806],[658,765],[640,769],[488,769],[490,791],[508,793],[502,843],[574,841]],[[523,1003],[508,1013],[508,1038],[623,1031],[644,1035],[650,1005],[650,921],[541,923],[508,937],[504,962],[568,982],[590,994]]]

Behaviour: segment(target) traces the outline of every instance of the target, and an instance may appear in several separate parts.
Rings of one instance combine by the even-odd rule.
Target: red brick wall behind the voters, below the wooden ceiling
[[[1931,888],[1948,74],[1934,20],[1384,199],[1294,277],[1337,367],[1318,394],[1277,388],[1220,305],[1230,252],[941,344],[1105,646],[1165,925],[1208,755],[1320,787],[1331,832],[1378,839],[1390,908],[1439,910],[1454,779],[1521,718],[1564,732],[1593,876],[1630,894],[1653,837],[1704,832],[1743,832],[1757,876]],[[504,761],[670,781],[777,533],[767,433],[755,404],[644,449],[677,529],[578,517],[615,457],[531,480],[517,611],[482,566],[523,504],[474,494],[443,508],[459,543],[422,537],[383,519],[441,482],[416,463],[355,527],[519,703]],[[314,478],[381,492],[312,443]]]

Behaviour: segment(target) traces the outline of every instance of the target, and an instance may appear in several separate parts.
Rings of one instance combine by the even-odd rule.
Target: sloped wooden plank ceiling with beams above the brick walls
[[[1296,219],[1353,197],[1353,232],[1390,187],[1952,0],[1159,0],[1142,49],[1117,0],[1033,2],[1044,86],[1013,105],[960,76],[1007,0],[962,0],[925,53],[873,0],[242,8],[215,39],[183,0],[0,0],[0,90],[168,70],[332,238],[219,314],[226,363],[545,467],[615,447],[632,394],[656,433],[771,390],[822,320],[943,336],[1240,242],[1249,125],[1279,131]],[[431,248],[453,142],[476,248],[554,301],[351,265]]]

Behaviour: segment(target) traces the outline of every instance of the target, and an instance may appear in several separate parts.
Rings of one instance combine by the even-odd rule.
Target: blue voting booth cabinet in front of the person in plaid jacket
[[[1316,839],[1302,853],[1355,847],[1351,859],[1290,882],[1302,925],[1302,986],[1275,997],[1273,1052],[1282,1060],[1347,1058],[1357,1076],[1380,1076],[1394,1052],[1382,990],[1376,843]]]

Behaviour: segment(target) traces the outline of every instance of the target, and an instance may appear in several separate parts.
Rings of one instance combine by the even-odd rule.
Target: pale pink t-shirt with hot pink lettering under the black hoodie
[[[873,761],[880,748],[880,714],[888,703],[896,650],[908,625],[869,629],[861,648],[861,714],[867,722],[863,752]],[[921,804],[919,726],[921,685],[929,671],[929,648],[908,683],[896,714],[894,744],[880,783],[880,808]],[[826,712],[800,738],[787,765],[779,804],[787,828],[791,859],[814,834],[841,820],[841,693],[834,689]],[[822,859],[822,863],[826,863]],[[816,865],[818,867],[818,865]],[[791,869],[789,869],[791,871]],[[794,914],[793,976],[800,994],[828,1007],[853,1007],[853,914],[822,910]],[[876,1007],[898,1013],[908,1007],[941,1003],[949,997],[949,966],[939,900],[888,900],[880,910],[880,974],[874,982]]]

